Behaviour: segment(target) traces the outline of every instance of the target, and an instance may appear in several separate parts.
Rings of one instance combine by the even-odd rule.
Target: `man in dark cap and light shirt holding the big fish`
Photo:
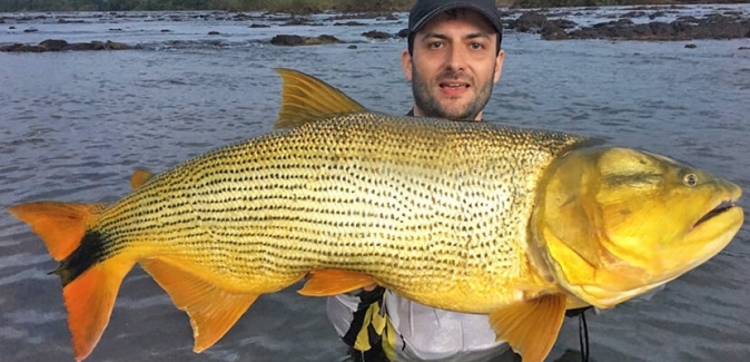
[[[417,0],[401,57],[412,82],[408,115],[478,121],[505,58],[493,0]],[[516,361],[486,315],[428,307],[382,287],[328,299],[330,322],[354,361]],[[387,359],[386,359],[387,356]]]

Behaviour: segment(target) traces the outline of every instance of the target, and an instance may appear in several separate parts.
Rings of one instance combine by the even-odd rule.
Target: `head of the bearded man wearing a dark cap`
[[[505,57],[496,47],[495,29],[478,12],[460,9],[430,20],[414,37],[413,55],[402,55],[414,115],[481,119]]]

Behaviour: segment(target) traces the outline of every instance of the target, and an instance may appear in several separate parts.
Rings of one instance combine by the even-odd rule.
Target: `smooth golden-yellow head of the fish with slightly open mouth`
[[[532,263],[601,309],[704,263],[743,223],[739,186],[630,148],[572,150],[550,165],[539,190]]]

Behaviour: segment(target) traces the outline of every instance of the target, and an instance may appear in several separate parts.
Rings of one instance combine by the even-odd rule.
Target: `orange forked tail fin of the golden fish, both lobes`
[[[99,342],[115,306],[117,292],[135,261],[107,255],[106,236],[89,231],[103,205],[39,202],[13,206],[10,214],[29,224],[60,266],[52,272],[62,281],[77,361]]]

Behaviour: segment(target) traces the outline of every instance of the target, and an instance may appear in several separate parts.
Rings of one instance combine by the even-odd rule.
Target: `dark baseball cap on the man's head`
[[[444,11],[453,9],[470,9],[483,14],[497,30],[497,51],[503,39],[503,23],[500,20],[500,11],[494,0],[416,0],[408,12],[408,51],[414,49],[414,35],[424,27],[432,18]]]

